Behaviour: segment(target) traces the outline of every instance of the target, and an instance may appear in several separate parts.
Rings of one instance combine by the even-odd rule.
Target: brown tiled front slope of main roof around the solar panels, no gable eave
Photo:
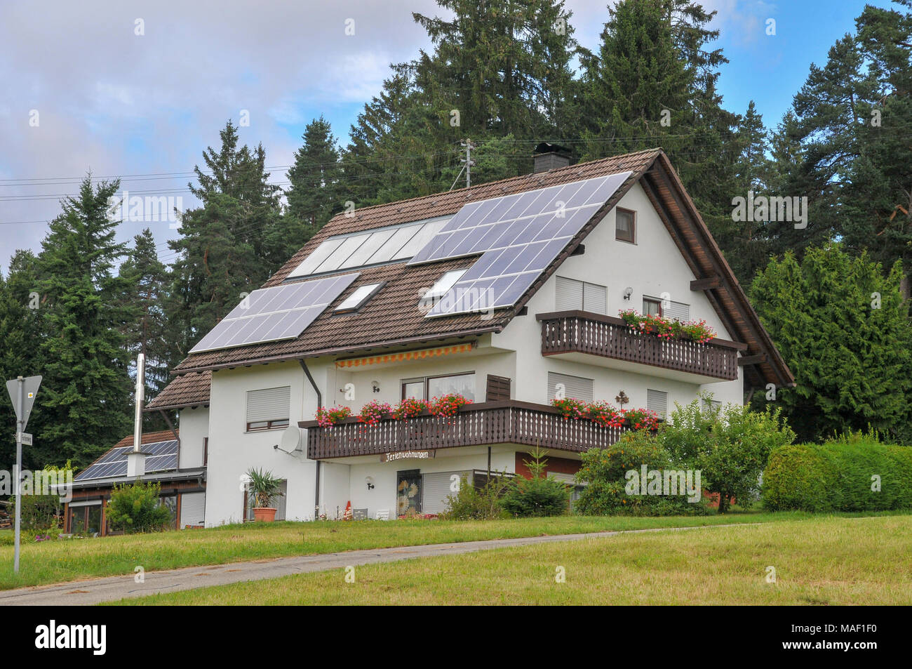
[[[337,214],[311,239],[304,248],[285,263],[264,287],[281,284],[306,256],[313,252],[326,237],[360,232],[388,225],[420,221],[458,212],[468,202],[487,200],[512,193],[523,193],[560,183],[571,183],[606,174],[633,172],[630,179],[618,190],[603,210],[613,206],[635,183],[639,175],[648,168],[660,153],[658,149],[628,153],[599,161],[585,162],[550,172],[538,172],[503,181],[482,183],[471,189],[462,188],[449,193],[426,195],[391,204],[378,204],[358,210],[352,216]],[[596,214],[594,219],[600,219]],[[586,229],[586,234],[588,229]],[[569,247],[575,246],[572,242]],[[443,272],[449,269],[470,267],[478,256],[408,266],[404,262],[382,267],[368,267],[358,270],[360,276],[330,305],[296,340],[271,341],[234,349],[212,350],[195,353],[176,368],[176,373],[234,364],[256,363],[281,359],[314,356],[347,350],[372,349],[392,345],[408,345],[410,342],[426,340],[447,340],[472,337],[483,331],[503,329],[513,319],[525,299],[534,294],[537,286],[530,289],[527,297],[513,309],[498,309],[493,318],[487,314],[457,314],[434,319],[424,318],[419,308],[419,298],[424,290],[434,285]],[[563,259],[563,258],[561,258]],[[555,262],[554,267],[559,265]],[[549,276],[546,271],[544,276]],[[358,286],[384,281],[386,285],[371,298],[357,313],[337,315],[332,308]]]

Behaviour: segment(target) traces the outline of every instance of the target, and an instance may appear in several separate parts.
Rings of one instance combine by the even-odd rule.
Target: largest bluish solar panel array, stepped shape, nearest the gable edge
[[[482,254],[427,316],[513,306],[630,173],[463,206],[409,262]]]

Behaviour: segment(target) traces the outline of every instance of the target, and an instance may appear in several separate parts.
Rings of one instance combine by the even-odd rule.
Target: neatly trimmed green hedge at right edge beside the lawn
[[[872,490],[872,476],[880,490]],[[773,511],[912,508],[912,447],[873,441],[791,444],[772,450],[763,504]]]

